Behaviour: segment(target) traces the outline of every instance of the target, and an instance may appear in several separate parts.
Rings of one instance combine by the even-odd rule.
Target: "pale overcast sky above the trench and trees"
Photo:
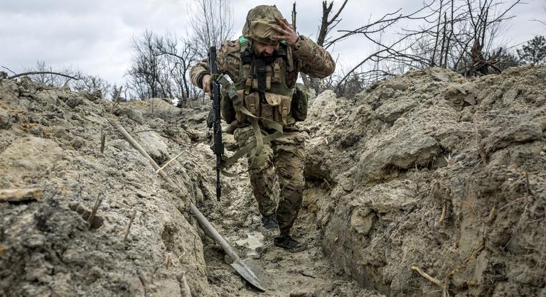
[[[341,2],[334,1],[337,6]],[[349,0],[337,29],[357,28],[370,18],[399,8],[409,12],[421,2]],[[517,17],[506,27],[503,38],[510,45],[528,41],[534,35],[546,35],[546,26],[530,21],[546,20],[546,1],[527,2],[513,10]],[[169,30],[178,36],[191,33],[188,11],[192,3],[193,0],[0,0],[0,66],[22,72],[43,60],[53,69],[71,67],[119,84],[129,67],[132,37],[141,35],[146,28],[156,33]],[[279,0],[262,4],[276,4],[289,18],[292,3],[293,0]],[[240,35],[247,11],[257,4],[258,1],[232,1],[235,37]],[[299,0],[296,5],[299,33],[315,39],[321,1]],[[352,38],[336,45],[333,56],[338,58],[338,65],[348,67],[370,50],[363,39]]]

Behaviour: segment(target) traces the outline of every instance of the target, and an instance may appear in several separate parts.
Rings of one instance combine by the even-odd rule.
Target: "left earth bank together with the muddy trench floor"
[[[164,99],[112,104],[100,93],[0,80],[0,296],[378,296],[332,269],[305,211],[296,232],[308,251],[264,242],[244,160],[216,200],[208,109]],[[164,169],[176,189],[117,125],[160,165],[179,155]],[[232,136],[225,141],[235,149]],[[6,189],[22,188],[36,190],[6,202]],[[267,292],[226,263],[189,202],[265,269]]]

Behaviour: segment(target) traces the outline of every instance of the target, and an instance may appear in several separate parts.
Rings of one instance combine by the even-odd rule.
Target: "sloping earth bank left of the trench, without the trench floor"
[[[183,195],[173,195],[110,121],[159,163],[172,153],[161,134],[190,142],[138,104],[112,108],[92,93],[0,82],[0,188],[43,191],[41,201],[0,204],[0,296],[176,296],[182,271],[194,293],[214,295],[187,217],[192,165],[178,166]]]

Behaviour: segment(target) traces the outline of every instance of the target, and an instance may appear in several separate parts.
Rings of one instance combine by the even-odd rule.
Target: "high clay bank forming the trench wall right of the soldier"
[[[546,68],[532,65],[319,95],[306,203],[333,263],[392,296],[546,294],[545,104]]]

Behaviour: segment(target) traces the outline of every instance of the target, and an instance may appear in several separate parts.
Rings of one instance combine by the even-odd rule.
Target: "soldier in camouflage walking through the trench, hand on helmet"
[[[218,72],[234,82],[239,101],[225,96],[222,115],[247,153],[250,184],[262,215],[262,234],[289,252],[306,244],[290,236],[304,191],[304,136],[296,121],[306,117],[306,92],[298,73],[327,77],[335,69],[331,55],[306,36],[298,36],[276,6],[261,5],[247,14],[242,36],[218,50]],[[208,60],[191,69],[191,82],[210,94]],[[237,104],[236,104],[237,103]],[[228,132],[230,133],[230,132]],[[269,139],[267,138],[269,137]],[[277,205],[273,187],[280,185]]]

